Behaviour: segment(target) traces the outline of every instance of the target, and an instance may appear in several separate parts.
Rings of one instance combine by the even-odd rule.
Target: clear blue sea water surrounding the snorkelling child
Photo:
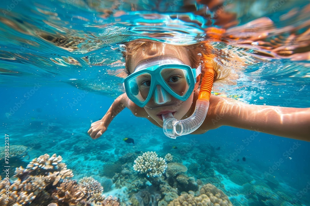
[[[107,5],[102,2],[101,7],[110,8],[113,2],[106,2]],[[117,17],[105,18],[99,7],[85,6],[84,1],[48,1],[42,4],[22,0],[18,1],[12,11],[1,12],[0,132],[2,142],[5,134],[10,136],[11,150],[14,145],[24,145],[29,155],[25,156],[23,153],[11,158],[11,177],[15,167],[25,168],[33,158],[45,153],[56,153],[62,156],[63,162],[73,171],[73,179],[92,176],[103,185],[104,194],[120,198],[121,205],[132,205],[130,197],[140,194],[140,191],[148,187],[144,185],[136,188],[135,192],[129,191],[132,181],[143,181],[142,175],[130,170],[131,176],[126,176],[117,168],[120,167],[117,161],[129,154],[134,154],[136,158],[140,152],[155,151],[160,157],[171,153],[176,158],[175,161],[191,168],[185,174],[194,177],[195,181],[201,179],[204,184],[214,183],[208,179],[213,175],[213,178],[218,179],[214,184],[228,195],[234,205],[310,205],[310,189],[307,189],[310,182],[309,142],[228,126],[202,135],[188,135],[172,140],[163,134],[161,128],[154,127],[146,119],[135,117],[128,109],[117,115],[108,131],[99,139],[92,140],[87,135],[91,122],[101,119],[113,100],[123,92],[122,78],[108,74],[109,69],[116,71],[123,66],[118,44],[129,37],[149,37],[152,34],[147,26],[143,27],[139,23],[154,23],[156,19],[149,20],[144,14],[153,14],[159,8],[162,19],[158,17],[156,20],[156,29],[176,32],[178,44],[182,41],[193,43],[193,36],[201,33],[199,23],[183,22],[182,29],[178,28],[182,21],[159,24],[168,18],[166,14],[178,12],[178,9],[179,12],[182,11],[183,7],[178,6],[181,2],[177,2],[166,13],[160,10],[160,6],[147,9],[153,4],[144,2],[140,7],[135,7],[138,11],[143,11],[142,15],[138,15],[134,11],[131,13],[130,2],[122,1],[123,6],[119,10],[128,13],[121,15],[121,21],[115,20]],[[7,5],[10,6],[11,3],[4,3],[2,11],[7,11]],[[246,5],[241,2],[233,3]],[[306,3],[301,1],[296,6],[300,8]],[[263,5],[264,1],[257,1],[256,4]],[[289,6],[286,8],[286,4],[281,8],[282,10],[272,12],[269,7],[270,12],[262,11],[261,16],[268,13],[275,20],[290,9]],[[240,15],[240,24],[260,17],[257,15]],[[83,20],[82,17],[88,20]],[[197,16],[196,19],[203,23]],[[15,23],[15,27],[12,23]],[[202,24],[201,27],[204,26]],[[283,25],[279,23],[277,26]],[[86,40],[78,44],[74,51],[69,51],[68,48],[66,50],[65,47],[56,46],[38,36],[45,31]],[[182,39],[186,31],[191,33]],[[159,40],[170,43],[173,41],[170,38]],[[89,58],[88,62],[82,61],[85,56]],[[66,62],[69,57],[78,60],[79,65]],[[290,69],[281,69],[288,65]],[[260,70],[261,68],[265,69]],[[264,59],[241,72],[244,77],[236,85],[218,84],[215,85],[215,90],[225,95],[240,95],[241,101],[251,104],[309,107],[308,61]],[[291,95],[293,99],[288,102]],[[260,99],[260,96],[264,98]],[[135,145],[124,142],[126,137],[133,138]],[[252,140],[249,141],[249,138]],[[174,146],[177,149],[173,149]],[[243,157],[246,161],[242,160]],[[1,161],[4,166],[3,159]],[[111,164],[115,164],[115,170],[103,169],[104,165]],[[132,164],[133,161],[126,162],[127,166]],[[196,164],[194,168],[197,170],[191,164]],[[122,168],[126,168],[124,165]],[[112,177],[109,176],[113,172],[121,174],[118,185],[113,184]],[[266,175],[266,172],[271,175]],[[246,192],[245,186],[242,186],[244,184],[233,183],[237,181],[232,181],[235,174],[245,177],[242,179],[246,181],[244,184],[247,183],[254,189]],[[276,183],[268,180],[267,176]],[[283,192],[287,197],[263,196],[257,191],[257,185],[271,189],[274,194]],[[185,192],[189,190],[182,188]],[[197,195],[198,192],[195,192]],[[151,191],[150,193],[153,194]],[[165,193],[161,195],[163,198]],[[273,203],[264,202],[267,200],[272,200]]]

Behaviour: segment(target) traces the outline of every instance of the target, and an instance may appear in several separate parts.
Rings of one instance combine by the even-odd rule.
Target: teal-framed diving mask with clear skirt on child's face
[[[187,100],[199,74],[200,66],[193,69],[176,57],[159,56],[141,61],[123,85],[128,98],[144,107],[153,95],[157,104],[171,101],[171,96]]]

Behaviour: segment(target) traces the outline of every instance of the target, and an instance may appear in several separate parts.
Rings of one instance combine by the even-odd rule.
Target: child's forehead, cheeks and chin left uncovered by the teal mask
[[[145,59],[158,56],[174,56],[182,60],[184,64],[191,65],[191,62],[188,57],[189,53],[185,47],[167,45],[163,43],[156,43],[150,47],[145,46],[142,47],[143,48],[139,48],[139,50],[136,51],[127,62],[127,64],[129,64],[128,68],[130,73],[134,72],[134,69],[139,62]],[[198,77],[194,91],[197,90],[199,86],[199,80],[200,78]],[[154,101],[154,94],[153,94],[151,100],[144,107],[148,115],[161,126],[163,124],[162,114],[171,112],[173,116],[178,120],[187,118],[188,116],[191,115],[194,92],[192,92],[192,94],[186,101],[181,101],[179,99],[174,98],[170,94],[168,95],[170,97],[169,98],[170,101],[164,104],[158,104],[156,103],[156,101]]]

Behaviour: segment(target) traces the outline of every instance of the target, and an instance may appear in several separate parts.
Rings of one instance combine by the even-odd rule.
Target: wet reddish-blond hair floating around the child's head
[[[146,40],[146,39],[139,39],[139,40],[132,40],[126,44],[126,49],[123,49],[122,54],[125,58],[125,72],[127,75],[131,74],[129,67],[129,62],[131,61],[131,58],[138,52],[143,52],[144,50],[150,48],[150,47],[158,47],[159,49],[163,47],[162,42],[152,41],[152,40]],[[167,45],[167,44],[166,44]],[[208,42],[203,41],[197,44],[191,44],[191,45],[174,45],[175,47],[184,47],[188,51],[188,57],[191,62],[192,68],[197,68],[199,65],[202,65],[201,67],[201,75],[203,77],[205,68],[203,62],[205,61],[203,58],[204,55],[202,54],[208,54],[208,57],[211,59],[215,56],[212,54],[212,46],[208,44]],[[212,62],[213,68],[214,68],[214,82],[219,81],[223,78],[225,78],[223,75],[220,75],[220,69],[219,67]],[[225,75],[226,76],[226,75]],[[202,78],[200,78],[200,84],[201,84]],[[199,86],[200,86],[199,84]]]

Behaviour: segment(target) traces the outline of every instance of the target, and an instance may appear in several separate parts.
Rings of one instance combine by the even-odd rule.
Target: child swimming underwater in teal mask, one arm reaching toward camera
[[[125,79],[126,93],[114,101],[101,120],[91,124],[88,134],[93,139],[100,137],[125,107],[158,127],[163,126],[162,117],[168,113],[175,119],[186,119],[194,112],[204,76],[211,72],[216,82],[229,75],[227,70],[220,70],[212,61],[214,54],[208,42],[176,46],[142,39],[131,41],[124,47],[125,72],[129,78],[126,78],[128,81]],[[158,70],[158,76],[150,70]],[[194,81],[190,80],[191,75]],[[157,82],[153,90],[150,89],[152,81],[159,81],[160,76],[166,82]],[[206,119],[192,134],[227,125],[310,141],[310,108],[249,105],[215,95],[210,95],[209,102]]]

